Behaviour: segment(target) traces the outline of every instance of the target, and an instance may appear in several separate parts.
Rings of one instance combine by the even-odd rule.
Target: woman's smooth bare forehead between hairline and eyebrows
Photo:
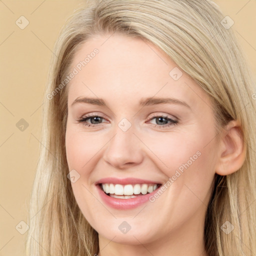
[[[198,104],[200,97],[206,97],[196,82],[158,47],[122,34],[96,35],[81,44],[70,70],[73,68],[77,73],[68,83],[68,105],[84,95],[123,103],[155,95]]]

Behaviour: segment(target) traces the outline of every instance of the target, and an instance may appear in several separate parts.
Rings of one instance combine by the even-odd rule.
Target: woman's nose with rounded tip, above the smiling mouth
[[[117,126],[115,134],[106,144],[103,159],[118,169],[139,164],[143,160],[141,143],[137,135],[133,133],[132,126],[127,131]]]

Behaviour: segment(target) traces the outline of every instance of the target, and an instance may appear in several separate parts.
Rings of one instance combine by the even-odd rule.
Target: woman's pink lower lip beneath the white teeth
[[[123,198],[115,198],[111,197],[104,193],[104,191],[100,188],[100,185],[96,185],[99,195],[102,198],[102,200],[110,207],[116,208],[116,209],[132,209],[136,208],[146,201],[149,201],[149,197],[152,196],[159,188],[156,188],[153,192],[147,193],[144,195],[139,195],[137,197],[123,199]]]

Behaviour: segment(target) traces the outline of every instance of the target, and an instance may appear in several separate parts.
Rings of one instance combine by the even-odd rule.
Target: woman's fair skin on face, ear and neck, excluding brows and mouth
[[[99,50],[68,83],[65,137],[69,170],[80,175],[71,183],[73,193],[99,234],[99,254],[206,255],[203,226],[214,173],[230,174],[244,160],[239,124],[230,122],[217,141],[210,99],[190,76],[183,72],[175,81],[169,72],[177,65],[153,44],[117,33],[109,36],[94,36],[74,55],[70,70],[94,48]],[[108,107],[84,102],[71,106],[82,96],[102,98]],[[146,97],[176,98],[189,107],[140,107]],[[88,113],[103,119],[94,127],[77,121]],[[167,115],[178,123],[161,128],[169,122],[161,124],[153,115]],[[131,123],[125,132],[118,127],[122,118]],[[200,156],[154,202],[134,209],[105,205],[94,185],[104,177],[163,184],[197,151]],[[118,229],[122,221],[131,226],[125,234]]]

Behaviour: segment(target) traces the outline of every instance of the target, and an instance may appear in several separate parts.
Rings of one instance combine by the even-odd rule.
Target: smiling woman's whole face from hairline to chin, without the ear
[[[208,96],[153,44],[116,33],[83,43],[71,72],[67,162],[99,237],[202,238],[218,150]]]

